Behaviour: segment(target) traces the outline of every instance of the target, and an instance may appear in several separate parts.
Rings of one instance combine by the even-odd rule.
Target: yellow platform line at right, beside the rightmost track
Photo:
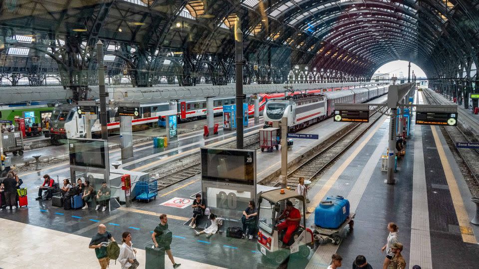
[[[461,196],[461,192],[459,191],[456,177],[453,174],[451,165],[449,165],[448,158],[446,157],[446,152],[444,151],[443,145],[441,144],[441,140],[439,140],[439,135],[436,131],[436,127],[431,126],[431,131],[433,132],[434,141],[436,142],[436,147],[438,148],[439,157],[441,158],[444,174],[446,175],[446,180],[449,185],[449,192],[451,193],[451,198],[453,200],[456,216],[458,217],[459,228],[461,230],[463,241],[466,243],[477,244],[478,242],[476,241],[476,237],[474,236],[473,229],[469,224],[469,216],[466,211],[466,208],[464,207],[463,198]]]

